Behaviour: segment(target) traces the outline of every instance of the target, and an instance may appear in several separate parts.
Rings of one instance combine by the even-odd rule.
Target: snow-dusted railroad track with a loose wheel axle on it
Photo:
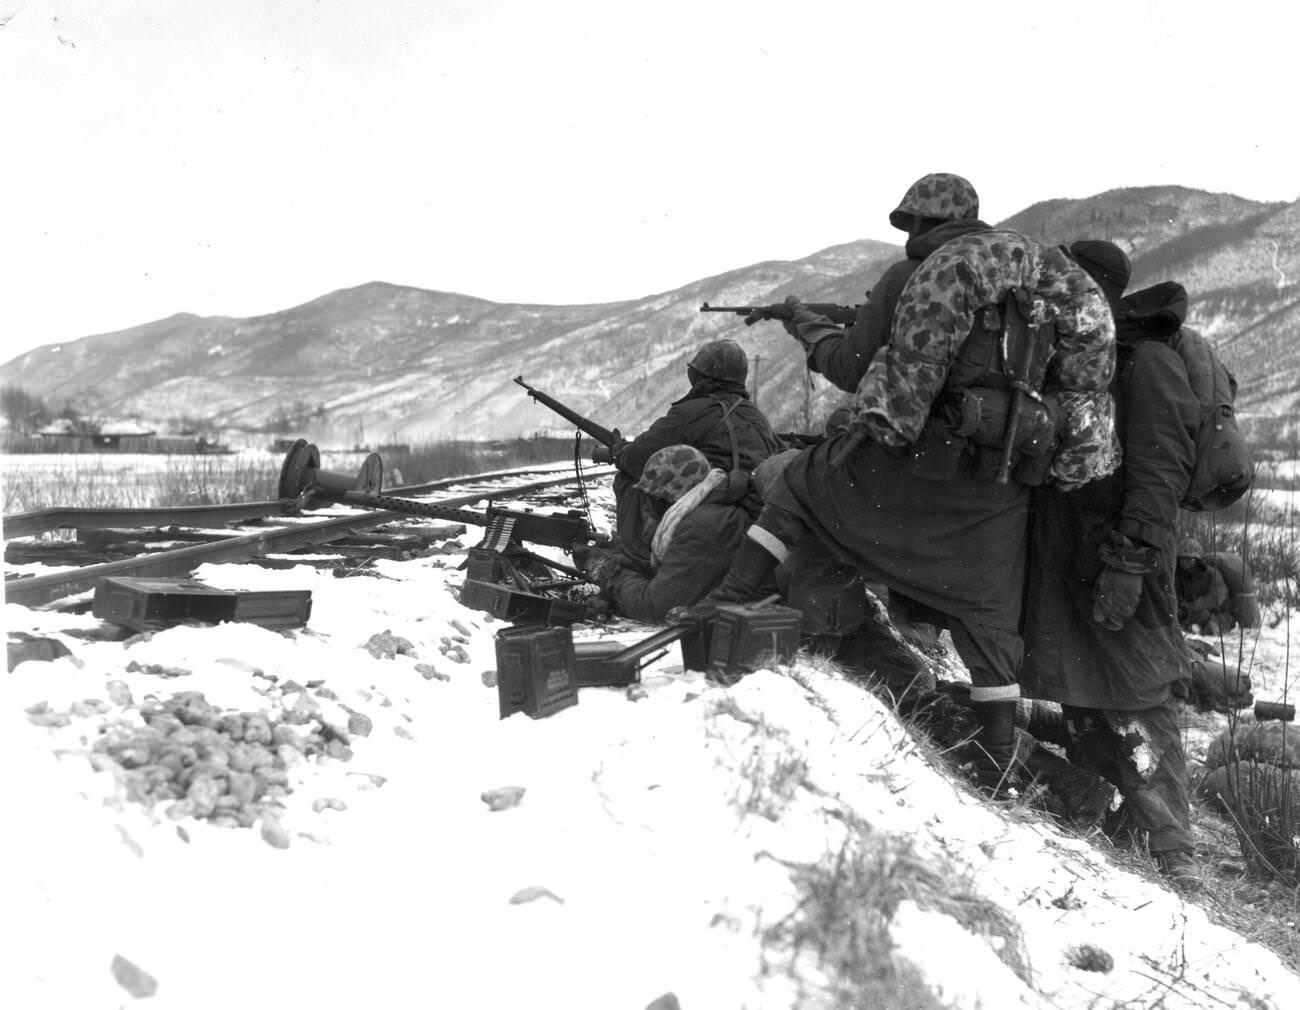
[[[363,463],[356,476],[322,471],[316,447],[299,441],[285,458],[278,497],[272,500],[178,508],[47,508],[5,516],[6,555],[16,541],[55,529],[73,529],[79,537],[91,530],[129,530],[140,534],[138,543],[142,547],[147,539],[155,543],[186,542],[179,547],[146,550],[135,556],[78,564],[49,573],[6,572],[5,601],[42,606],[92,590],[109,577],[187,576],[204,563],[265,559],[348,538],[364,539],[368,530],[410,516],[488,526],[491,508],[484,513],[465,506],[484,499],[521,502],[536,498],[541,491],[577,482],[572,471],[556,473],[554,467],[516,468],[403,485],[381,493],[381,473],[382,465],[374,455]],[[612,468],[598,467],[588,469],[585,476],[603,477],[610,473]],[[304,515],[322,507],[329,510],[325,517]],[[529,520],[526,512],[512,516],[507,525],[526,524]],[[578,520],[573,516],[573,523],[575,530],[586,528],[585,517]],[[32,550],[25,556],[40,554],[40,547],[34,543],[27,546]],[[55,552],[51,554],[57,563]]]

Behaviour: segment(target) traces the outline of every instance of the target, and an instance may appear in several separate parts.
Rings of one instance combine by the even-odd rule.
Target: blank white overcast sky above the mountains
[[[0,360],[390,281],[638,298],[858,238],[1300,198],[1282,0],[0,0]]]

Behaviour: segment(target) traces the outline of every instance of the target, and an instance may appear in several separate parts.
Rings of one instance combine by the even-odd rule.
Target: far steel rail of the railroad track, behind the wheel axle
[[[491,481],[502,477],[517,477],[524,473],[537,473],[537,469],[520,468],[506,471],[486,471],[463,477],[442,477],[424,484],[406,484],[386,489],[386,494],[422,494],[458,484]],[[545,471],[543,471],[545,472]],[[586,471],[589,476],[603,477],[610,473],[607,467]],[[572,474],[569,480],[573,480]],[[0,517],[0,530],[9,539],[13,537],[34,537],[52,529],[139,529],[143,526],[229,526],[252,519],[292,515],[300,507],[296,498],[274,498],[265,502],[238,502],[213,506],[170,506],[166,508],[38,508],[31,512],[16,512]]]

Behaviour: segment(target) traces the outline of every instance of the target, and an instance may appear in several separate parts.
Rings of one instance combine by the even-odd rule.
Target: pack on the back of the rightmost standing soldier
[[[1169,346],[1183,359],[1187,380],[1201,404],[1196,463],[1179,504],[1190,512],[1216,512],[1245,494],[1254,477],[1251,448],[1232,409],[1236,378],[1219,360],[1213,344],[1193,329],[1180,326]]]

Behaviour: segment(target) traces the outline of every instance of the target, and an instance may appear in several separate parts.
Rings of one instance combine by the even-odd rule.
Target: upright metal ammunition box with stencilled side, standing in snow
[[[500,718],[533,719],[577,705],[573,633],[568,628],[516,625],[497,632],[497,703]]]

